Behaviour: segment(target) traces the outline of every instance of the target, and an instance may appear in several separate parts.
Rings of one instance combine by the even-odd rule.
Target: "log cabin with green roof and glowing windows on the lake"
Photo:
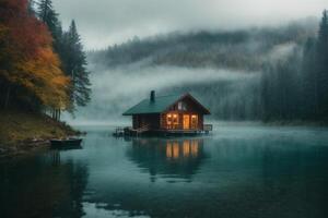
[[[139,132],[202,133],[212,130],[203,117],[210,111],[190,94],[155,96],[140,101],[124,116],[132,117],[132,130]]]

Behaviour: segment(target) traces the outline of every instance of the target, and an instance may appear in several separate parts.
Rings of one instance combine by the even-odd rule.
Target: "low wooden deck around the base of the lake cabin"
[[[159,129],[152,130],[149,126],[140,129],[132,128],[116,128],[113,133],[116,137],[122,136],[179,136],[179,135],[199,135],[209,134],[213,130],[211,124],[204,124],[202,129],[197,130],[179,130],[179,129]]]

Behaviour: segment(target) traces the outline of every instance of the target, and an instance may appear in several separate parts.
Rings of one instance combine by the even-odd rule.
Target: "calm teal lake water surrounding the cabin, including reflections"
[[[85,128],[84,128],[85,129]],[[0,217],[328,217],[328,130],[215,128],[0,161]]]

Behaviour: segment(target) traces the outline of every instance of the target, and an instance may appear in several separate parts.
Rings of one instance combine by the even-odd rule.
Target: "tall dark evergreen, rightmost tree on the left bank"
[[[85,106],[90,101],[91,94],[90,72],[86,70],[86,57],[74,21],[65,34],[63,45],[66,48],[63,68],[72,82],[71,100],[77,106]]]

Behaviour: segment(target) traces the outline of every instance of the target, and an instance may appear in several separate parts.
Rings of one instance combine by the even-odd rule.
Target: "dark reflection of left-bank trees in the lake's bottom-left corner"
[[[59,152],[0,165],[0,217],[82,217],[87,167]],[[3,204],[5,203],[5,204]]]

